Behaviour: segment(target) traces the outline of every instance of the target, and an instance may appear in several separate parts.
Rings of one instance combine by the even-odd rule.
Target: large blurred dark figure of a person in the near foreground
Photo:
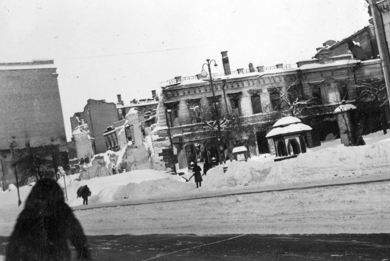
[[[40,179],[32,188],[5,250],[6,261],[68,261],[68,240],[77,260],[90,260],[87,238],[65,203],[62,189],[53,179]]]

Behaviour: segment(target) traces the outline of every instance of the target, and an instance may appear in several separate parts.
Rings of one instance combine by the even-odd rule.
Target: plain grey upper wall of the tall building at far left
[[[0,149],[14,136],[19,147],[59,144],[67,151],[56,69],[0,67]]]

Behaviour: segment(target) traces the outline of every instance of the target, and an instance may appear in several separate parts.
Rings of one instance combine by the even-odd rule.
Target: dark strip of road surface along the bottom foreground
[[[389,240],[390,234],[88,236],[94,261],[390,261]],[[2,253],[6,241],[0,237]]]

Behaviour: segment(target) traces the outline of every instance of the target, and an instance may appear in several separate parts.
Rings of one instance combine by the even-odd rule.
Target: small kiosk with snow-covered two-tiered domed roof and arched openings
[[[307,147],[313,147],[311,130],[310,126],[292,116],[283,117],[273,124],[266,138],[273,140],[276,156],[283,157],[275,161],[294,158],[305,153]]]

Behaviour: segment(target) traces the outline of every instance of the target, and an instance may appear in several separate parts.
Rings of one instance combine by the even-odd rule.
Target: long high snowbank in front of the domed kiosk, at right
[[[278,162],[271,168],[266,184],[310,183],[323,179],[362,177],[384,173],[390,167],[390,144],[329,147]]]

